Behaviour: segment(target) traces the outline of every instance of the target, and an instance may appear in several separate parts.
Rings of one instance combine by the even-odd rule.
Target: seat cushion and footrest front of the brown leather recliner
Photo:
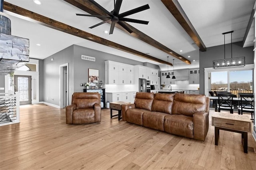
[[[73,124],[94,123],[95,111],[94,108],[90,109],[75,109],[72,115]]]

